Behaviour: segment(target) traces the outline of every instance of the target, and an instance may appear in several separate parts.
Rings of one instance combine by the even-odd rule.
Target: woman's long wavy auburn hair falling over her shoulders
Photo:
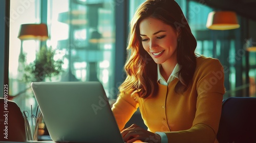
[[[197,41],[180,6],[174,0],[147,0],[137,8],[130,23],[127,46],[129,54],[124,65],[127,77],[119,87],[119,94],[129,92],[131,96],[135,96],[137,93],[140,98],[145,99],[156,96],[158,91],[157,64],[143,49],[139,31],[139,23],[146,17],[160,19],[180,31],[177,38],[177,62],[180,70],[175,92],[182,93],[188,88],[195,73]]]

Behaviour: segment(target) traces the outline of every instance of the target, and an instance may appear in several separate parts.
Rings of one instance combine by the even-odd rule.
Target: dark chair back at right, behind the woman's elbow
[[[230,97],[223,101],[217,133],[219,143],[256,142],[256,98]]]

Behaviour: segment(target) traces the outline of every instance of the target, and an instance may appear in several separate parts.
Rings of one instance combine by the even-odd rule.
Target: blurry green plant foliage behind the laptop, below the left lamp
[[[45,81],[47,78],[51,80],[51,77],[59,75],[62,71],[63,61],[60,59],[54,60],[54,55],[55,50],[52,47],[42,46],[36,54],[34,62],[30,64],[23,62],[23,81]]]

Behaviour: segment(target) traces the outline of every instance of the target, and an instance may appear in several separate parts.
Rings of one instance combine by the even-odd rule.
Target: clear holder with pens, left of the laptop
[[[26,131],[27,141],[37,141],[39,118],[24,117],[24,120],[25,120],[25,131]]]

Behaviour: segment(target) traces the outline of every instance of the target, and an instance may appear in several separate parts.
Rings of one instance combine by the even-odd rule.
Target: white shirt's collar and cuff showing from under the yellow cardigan
[[[179,79],[178,72],[180,70],[180,65],[178,63],[175,65],[174,70],[173,70],[172,74],[170,74],[167,82],[165,81],[165,79],[163,78],[163,76],[160,73],[160,67],[161,67],[161,64],[158,64],[157,65],[157,81],[160,84],[167,86],[175,78]],[[159,134],[161,136],[161,143],[167,143],[168,142],[168,138],[167,138],[167,136],[164,132],[156,132],[156,134]]]

